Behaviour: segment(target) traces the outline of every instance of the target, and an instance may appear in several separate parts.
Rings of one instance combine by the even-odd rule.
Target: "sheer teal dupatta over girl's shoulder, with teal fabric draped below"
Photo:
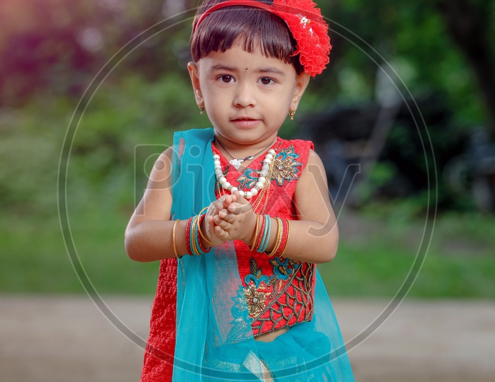
[[[213,129],[175,133],[172,219],[216,199],[213,139]],[[272,342],[254,340],[232,242],[178,260],[176,312],[173,381],[354,381],[318,271],[313,320]]]

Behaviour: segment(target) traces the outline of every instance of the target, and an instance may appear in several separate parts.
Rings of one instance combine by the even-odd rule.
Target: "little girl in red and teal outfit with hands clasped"
[[[141,381],[353,381],[315,264],[338,232],[310,141],[277,137],[330,38],[312,0],[206,0],[188,64],[213,129],[176,132],[127,227],[161,260]]]

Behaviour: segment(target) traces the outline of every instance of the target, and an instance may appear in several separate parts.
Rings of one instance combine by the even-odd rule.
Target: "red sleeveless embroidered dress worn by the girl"
[[[251,199],[255,212],[289,220],[297,219],[294,204],[296,183],[308,163],[310,141],[277,138],[269,190]],[[251,189],[259,177],[264,154],[242,172],[235,170],[219,154],[223,173],[239,190]],[[268,150],[268,149],[267,149]],[[213,160],[213,159],[212,159]],[[222,195],[216,186],[216,197]],[[311,320],[315,286],[315,265],[284,257],[268,257],[250,252],[242,241],[234,242],[245,302],[252,318],[253,335],[261,335]],[[151,311],[150,334],[144,354],[141,381],[171,381],[175,352],[175,309],[177,299],[177,260],[161,261],[158,287]],[[235,333],[233,333],[235,340]]]

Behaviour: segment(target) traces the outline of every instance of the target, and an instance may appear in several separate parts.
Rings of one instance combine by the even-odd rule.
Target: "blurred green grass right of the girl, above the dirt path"
[[[349,215],[349,214],[348,214]],[[495,219],[479,214],[445,214],[424,237],[424,221],[344,216],[359,222],[336,259],[322,266],[325,284],[339,296],[394,296],[412,272],[408,296],[421,298],[495,297]],[[344,225],[345,226],[345,225]],[[421,265],[420,272],[414,272]],[[406,290],[409,289],[406,284]]]

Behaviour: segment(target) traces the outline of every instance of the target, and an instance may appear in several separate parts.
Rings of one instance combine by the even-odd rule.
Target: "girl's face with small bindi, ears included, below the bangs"
[[[188,65],[194,94],[216,134],[233,144],[269,144],[308,85],[291,64],[233,45]]]

